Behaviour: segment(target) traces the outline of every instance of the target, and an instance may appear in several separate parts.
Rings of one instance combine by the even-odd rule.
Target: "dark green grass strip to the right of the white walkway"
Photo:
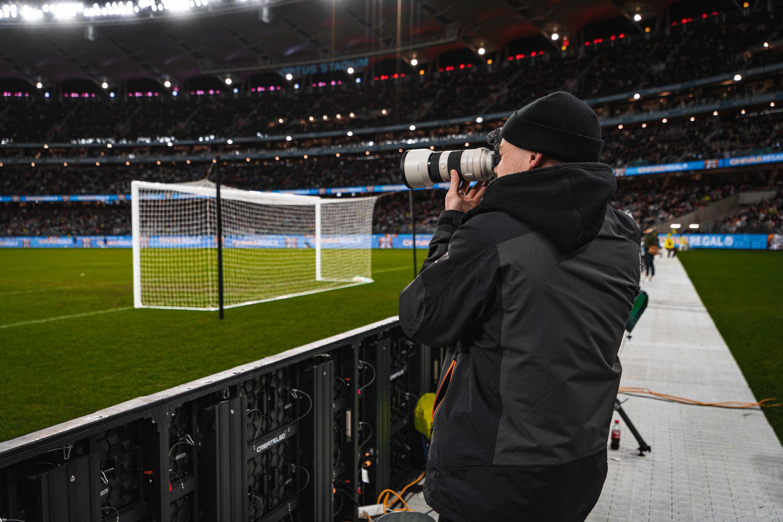
[[[690,250],[678,257],[753,394],[783,402],[781,252]],[[783,406],[763,412],[783,441]]]

